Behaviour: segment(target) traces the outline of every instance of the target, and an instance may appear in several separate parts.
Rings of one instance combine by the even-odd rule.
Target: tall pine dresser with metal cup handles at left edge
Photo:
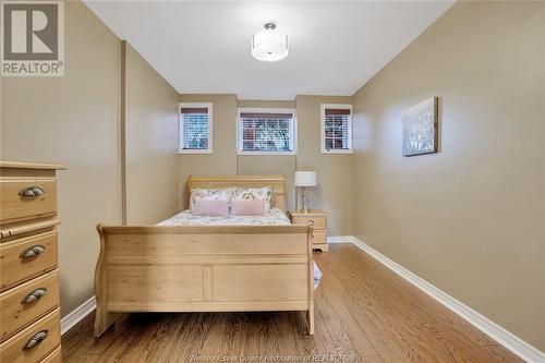
[[[61,362],[58,165],[0,161],[0,362]]]

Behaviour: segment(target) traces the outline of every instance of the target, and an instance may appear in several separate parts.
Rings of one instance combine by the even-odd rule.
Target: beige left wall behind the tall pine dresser
[[[64,76],[2,77],[0,128],[2,159],[68,167],[59,172],[63,316],[93,295],[96,225],[122,222],[121,41],[80,1],[65,2],[64,22]],[[153,223],[179,208],[178,94],[131,47],[125,65],[129,221]]]

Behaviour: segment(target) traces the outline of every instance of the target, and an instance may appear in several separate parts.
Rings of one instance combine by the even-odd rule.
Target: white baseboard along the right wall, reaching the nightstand
[[[505,328],[500,327],[493,320],[487,317],[481,315],[473,308],[463,304],[462,302],[456,300],[445,291],[436,288],[432,283],[425,281],[419,276],[414,275],[403,266],[395,263],[390,258],[383,255],[380,252],[374,250],[370,245],[365,244],[358,238],[353,235],[343,235],[343,237],[330,237],[328,238],[328,243],[353,243],[367,254],[370,254],[373,258],[391,269],[393,273],[401,276],[407,281],[411,282],[413,286],[424,291],[426,294],[450,308],[479,330],[486,334],[492,339],[496,340],[501,346],[509,349],[511,352],[520,356],[526,362],[532,363],[543,363],[545,362],[545,353],[540,351],[538,349],[532,347],[524,340],[514,336],[513,334],[507,331]]]

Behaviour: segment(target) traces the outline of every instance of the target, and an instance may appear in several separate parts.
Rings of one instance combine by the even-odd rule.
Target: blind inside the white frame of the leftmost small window
[[[208,149],[208,109],[182,108],[182,148],[186,150]]]

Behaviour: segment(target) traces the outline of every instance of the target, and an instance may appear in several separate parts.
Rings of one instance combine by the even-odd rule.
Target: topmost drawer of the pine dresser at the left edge
[[[56,215],[57,181],[55,179],[1,180],[0,206],[2,225]]]

